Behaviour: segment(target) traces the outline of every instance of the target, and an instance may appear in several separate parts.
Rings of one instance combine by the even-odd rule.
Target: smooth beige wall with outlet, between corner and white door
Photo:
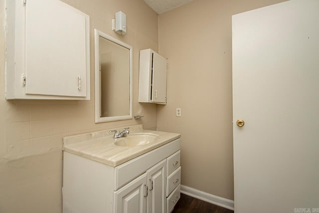
[[[168,76],[158,129],[182,135],[182,185],[233,200],[231,15],[281,1],[193,0],[159,16]]]

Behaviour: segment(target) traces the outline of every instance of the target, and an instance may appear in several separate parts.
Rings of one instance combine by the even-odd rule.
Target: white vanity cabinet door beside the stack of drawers
[[[148,171],[149,195],[147,198],[148,213],[166,212],[166,159]]]

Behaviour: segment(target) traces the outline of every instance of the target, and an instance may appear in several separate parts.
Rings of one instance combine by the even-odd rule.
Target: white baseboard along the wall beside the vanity
[[[180,193],[189,195],[202,201],[206,201],[211,204],[215,204],[220,207],[224,207],[229,210],[234,210],[234,201],[228,200],[226,198],[211,195],[183,185],[180,186]]]

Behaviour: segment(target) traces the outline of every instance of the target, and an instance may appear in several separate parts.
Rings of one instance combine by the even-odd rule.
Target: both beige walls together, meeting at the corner
[[[67,0],[90,15],[91,100],[4,100],[4,0],[0,0],[0,212],[61,212],[65,135],[133,124],[182,134],[182,184],[233,199],[231,15],[284,0],[193,0],[159,16],[143,0]],[[111,30],[116,11],[128,33]],[[134,48],[133,114],[94,123],[93,28]],[[159,40],[159,41],[158,41]],[[167,105],[138,103],[139,50],[168,57]],[[181,107],[182,117],[175,117]]]

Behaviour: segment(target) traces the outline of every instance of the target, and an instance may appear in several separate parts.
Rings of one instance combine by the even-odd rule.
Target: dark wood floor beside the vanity
[[[214,204],[180,194],[180,199],[177,202],[172,213],[234,213]]]

